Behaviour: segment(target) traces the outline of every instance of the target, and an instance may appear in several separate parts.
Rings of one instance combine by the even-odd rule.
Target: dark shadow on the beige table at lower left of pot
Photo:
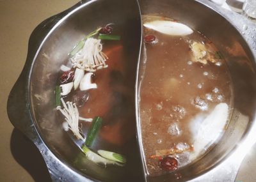
[[[10,147],[13,158],[29,172],[36,181],[51,181],[44,159],[36,146],[19,130],[13,129]]]

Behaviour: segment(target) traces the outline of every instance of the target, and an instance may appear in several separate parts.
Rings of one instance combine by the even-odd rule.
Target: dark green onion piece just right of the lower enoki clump
[[[99,116],[93,118],[92,125],[86,135],[86,139],[85,139],[86,146],[92,146],[92,143],[96,139],[101,125],[102,125],[102,118],[100,118]]]

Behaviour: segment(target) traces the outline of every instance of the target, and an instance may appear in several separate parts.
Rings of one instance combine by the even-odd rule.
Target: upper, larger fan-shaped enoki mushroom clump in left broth
[[[88,38],[84,42],[84,46],[73,57],[70,57],[74,67],[86,70],[87,72],[95,72],[102,68],[107,68],[105,61],[108,56],[102,52],[102,43],[95,38]]]

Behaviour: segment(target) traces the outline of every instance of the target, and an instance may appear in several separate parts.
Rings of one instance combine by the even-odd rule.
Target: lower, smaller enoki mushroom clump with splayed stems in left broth
[[[81,118],[79,117],[79,112],[76,107],[76,103],[67,102],[65,103],[63,98],[61,98],[62,105],[64,109],[61,109],[60,106],[57,107],[57,110],[60,110],[61,114],[65,116],[65,120],[68,123],[68,128],[76,135],[77,139],[85,140],[83,135],[80,133],[79,128],[79,119],[83,121],[92,121],[92,118]]]

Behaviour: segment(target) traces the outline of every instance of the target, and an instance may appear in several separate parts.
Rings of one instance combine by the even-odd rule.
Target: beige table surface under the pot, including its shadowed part
[[[28,39],[42,20],[67,9],[77,0],[0,0],[0,181],[50,181],[40,153],[6,113],[8,94],[19,77]],[[256,146],[248,151],[236,181],[256,181]]]

